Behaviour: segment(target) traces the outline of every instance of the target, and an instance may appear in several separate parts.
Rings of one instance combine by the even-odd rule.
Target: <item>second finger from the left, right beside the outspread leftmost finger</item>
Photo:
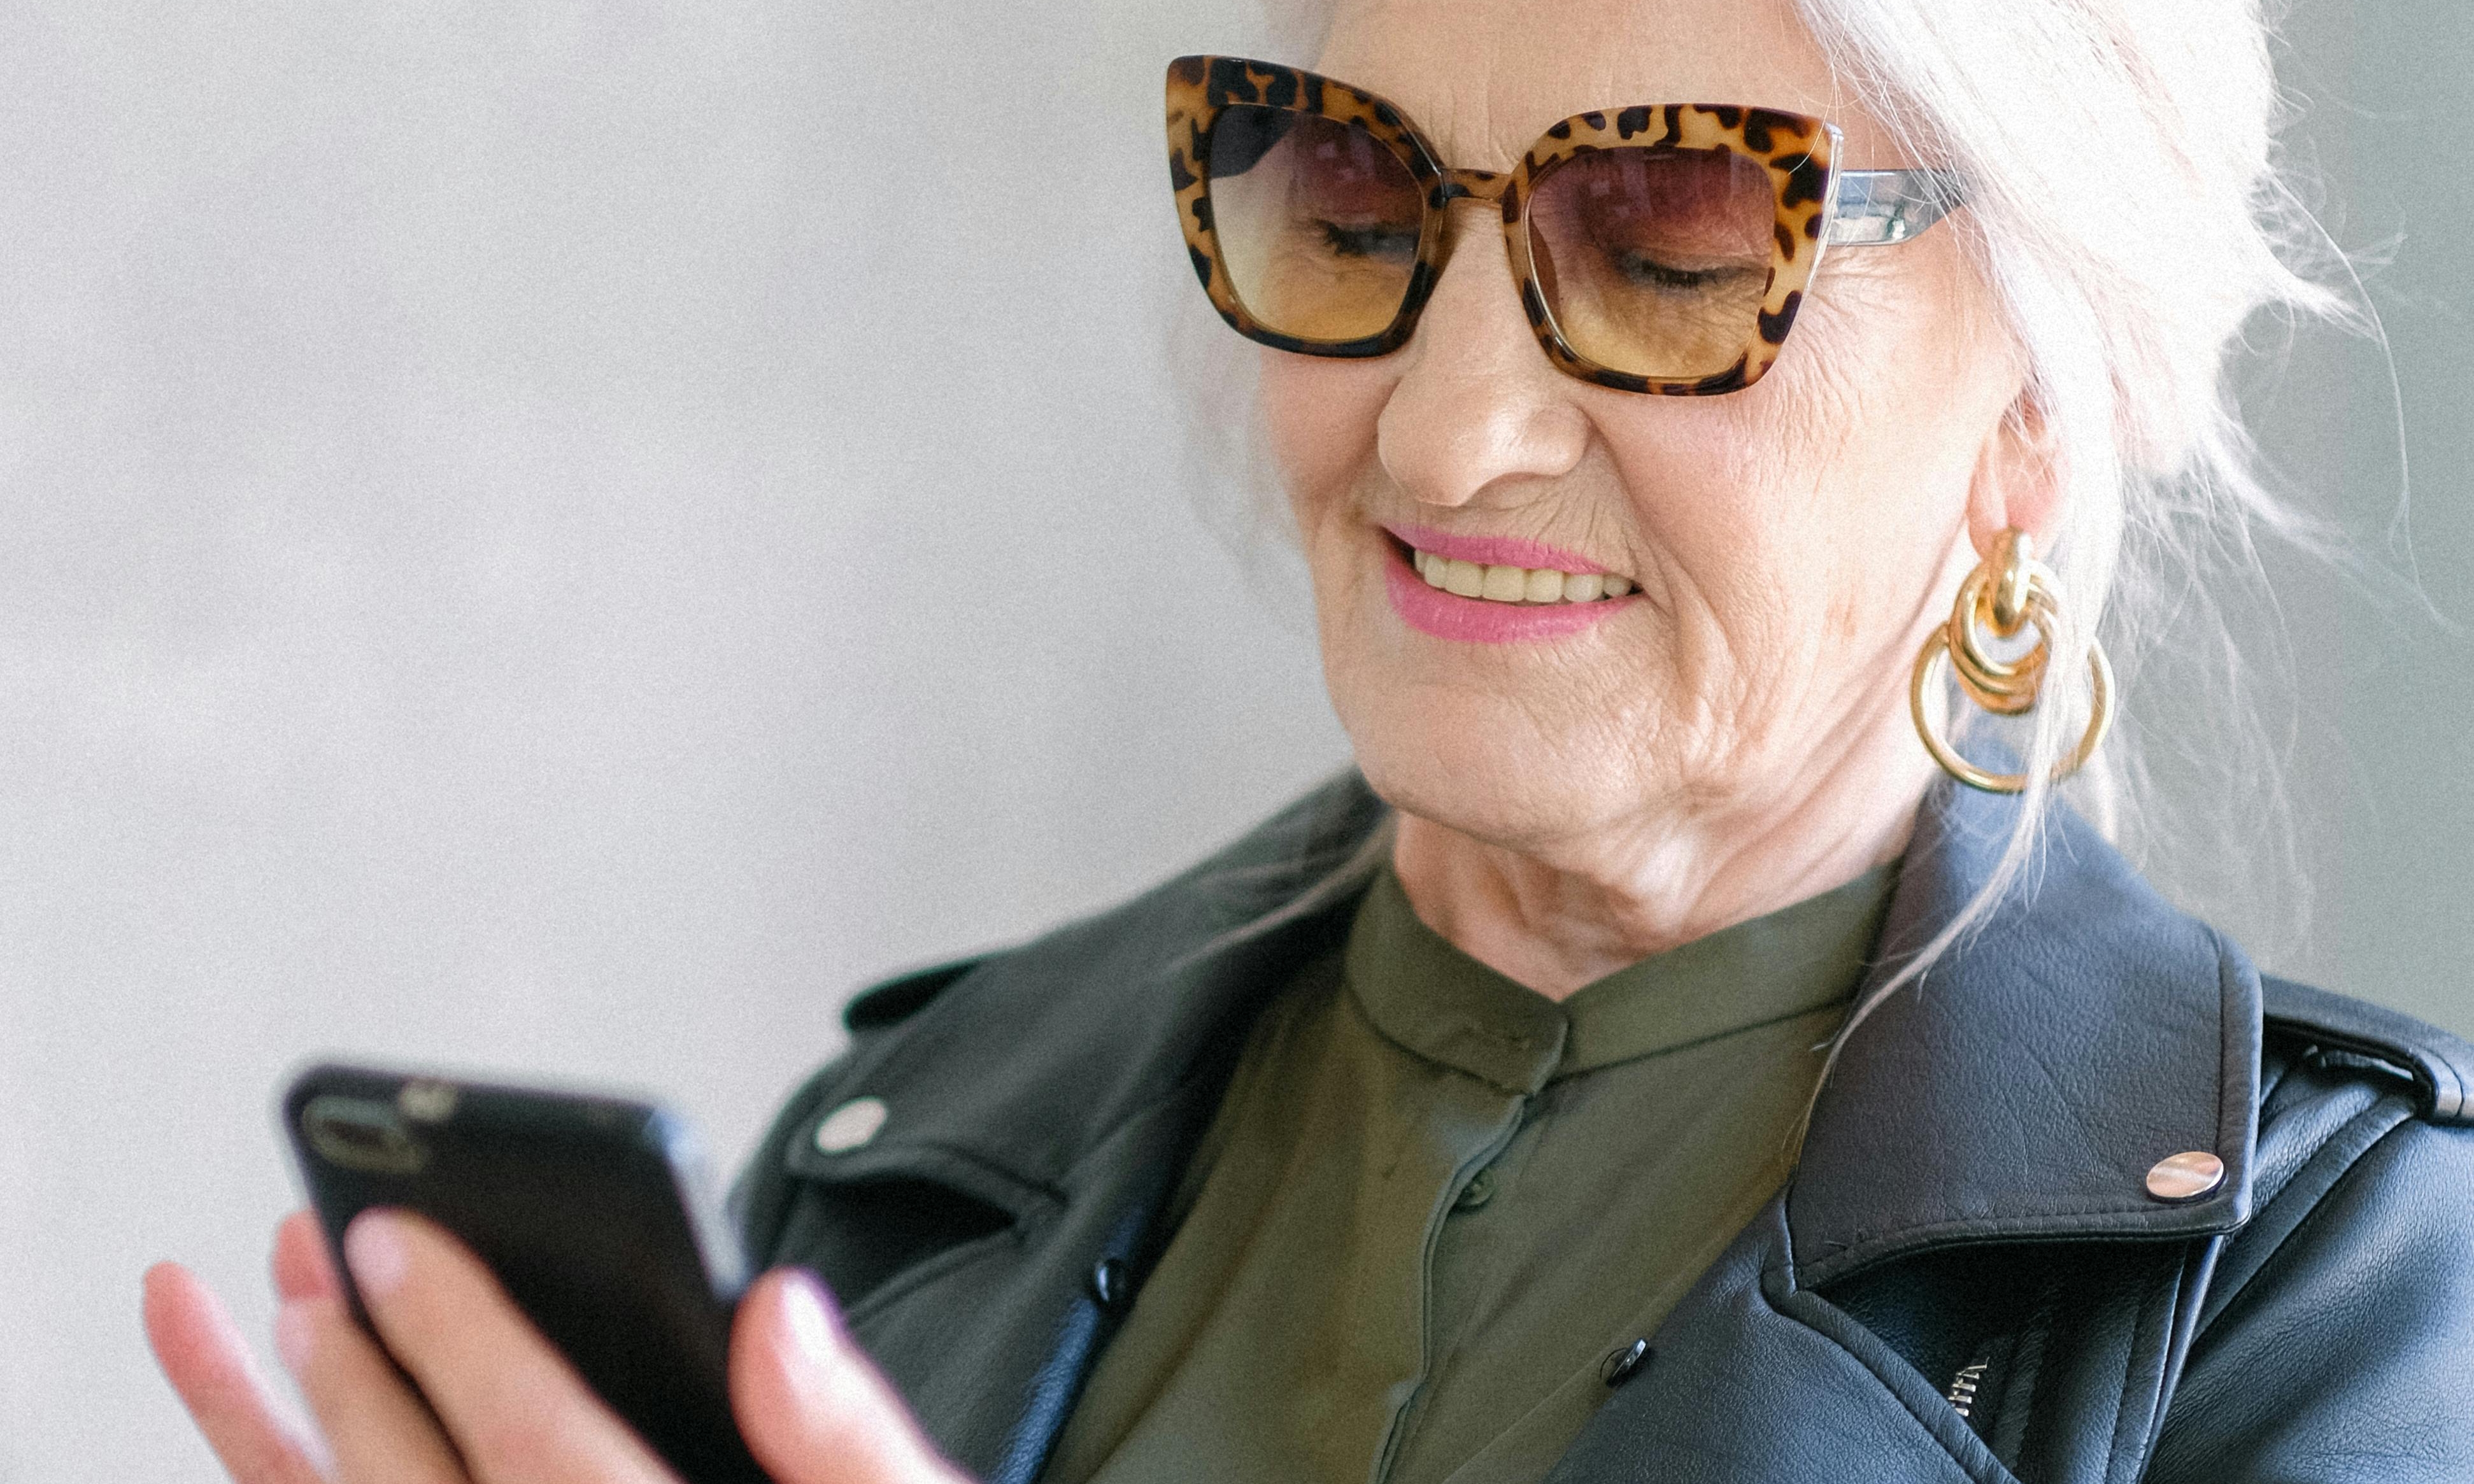
[[[336,1294],[285,1298],[275,1348],[344,1484],[465,1484],[455,1447]]]

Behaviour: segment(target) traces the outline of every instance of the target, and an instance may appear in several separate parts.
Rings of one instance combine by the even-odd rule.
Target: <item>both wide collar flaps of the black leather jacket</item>
[[[1927,796],[1870,984],[1989,881],[2011,809]],[[1341,942],[1385,846],[1348,772],[1143,898],[982,960],[854,1046],[841,1086],[883,1098],[883,1133],[836,1155],[794,1138],[794,1170],[1059,1209],[1111,1133],[1225,1073],[1262,999]],[[2229,1229],[2256,1081],[2249,962],[2056,811],[2006,903],[1843,1041],[1789,1185],[1796,1281],[1962,1242]],[[2224,1160],[2222,1185],[2150,1197],[2147,1170],[2185,1150]]]

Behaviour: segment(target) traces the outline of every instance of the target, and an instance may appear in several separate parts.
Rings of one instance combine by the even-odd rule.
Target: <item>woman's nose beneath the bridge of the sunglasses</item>
[[[1450,228],[1452,252],[1376,423],[1383,470],[1425,505],[1551,480],[1588,448],[1581,383],[1549,366],[1529,331],[1494,208],[1460,203]]]

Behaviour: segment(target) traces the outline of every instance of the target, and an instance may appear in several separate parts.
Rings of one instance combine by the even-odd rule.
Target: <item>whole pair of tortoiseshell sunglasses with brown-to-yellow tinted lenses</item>
[[[1561,371],[1712,396],[1779,359],[1823,247],[1905,242],[1950,171],[1836,171],[1838,129],[1727,104],[1576,114],[1519,168],[1455,171],[1393,104],[1242,57],[1168,64],[1168,173],[1195,275],[1237,334],[1380,356],[1418,326],[1445,210],[1494,200],[1522,309]]]

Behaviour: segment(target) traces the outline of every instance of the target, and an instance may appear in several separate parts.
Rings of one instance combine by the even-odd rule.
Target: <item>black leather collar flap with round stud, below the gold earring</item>
[[[2014,809],[1927,796],[1858,1002],[1992,878]],[[2056,809],[2001,905],[1846,1034],[1789,1185],[1796,1281],[1962,1242],[2227,1232],[2251,1209],[2256,1093],[2249,960]],[[2152,1197],[2177,1153],[2222,1182]]]

